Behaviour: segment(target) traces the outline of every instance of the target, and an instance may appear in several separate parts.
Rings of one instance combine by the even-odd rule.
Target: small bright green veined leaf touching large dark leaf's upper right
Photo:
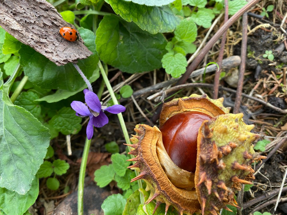
[[[178,41],[194,42],[197,37],[196,24],[191,19],[183,19],[174,31]]]

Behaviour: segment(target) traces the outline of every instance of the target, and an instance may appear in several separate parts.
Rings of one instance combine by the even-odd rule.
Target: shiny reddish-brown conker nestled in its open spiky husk
[[[199,127],[212,117],[202,112],[183,112],[160,127],[162,142],[170,159],[181,169],[195,172]]]

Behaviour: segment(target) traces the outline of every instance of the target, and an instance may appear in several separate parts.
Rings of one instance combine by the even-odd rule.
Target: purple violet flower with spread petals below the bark
[[[96,93],[93,93],[88,89],[84,89],[84,94],[87,105],[81,101],[73,101],[71,107],[75,110],[77,116],[90,117],[86,131],[87,138],[90,140],[94,134],[93,125],[100,128],[108,123],[108,117],[104,114],[104,111],[108,111],[112,114],[119,114],[125,111],[125,107],[123,105],[113,105],[110,107],[107,107],[107,105],[103,106]]]

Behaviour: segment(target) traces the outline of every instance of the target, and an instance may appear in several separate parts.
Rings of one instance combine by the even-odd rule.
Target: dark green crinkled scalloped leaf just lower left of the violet
[[[59,113],[49,121],[62,134],[77,134],[81,130],[82,118],[75,115],[70,107],[63,107]]]

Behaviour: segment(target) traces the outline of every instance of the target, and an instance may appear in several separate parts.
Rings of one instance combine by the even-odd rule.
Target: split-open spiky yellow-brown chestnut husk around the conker
[[[229,111],[228,108],[223,107],[222,101],[222,99],[213,100],[206,95],[199,96],[195,94],[191,97],[174,99],[164,105],[160,119],[163,124],[171,116],[186,111],[199,111],[216,117]],[[222,118],[222,116],[224,117]],[[133,144],[130,145],[135,150],[129,153],[137,156],[130,159],[131,161],[137,161],[137,163],[130,168],[136,168],[141,172],[132,181],[144,179],[147,188],[151,190],[146,204],[155,199],[156,206],[160,203],[166,204],[166,211],[172,205],[179,211],[179,214],[185,213],[188,215],[200,212],[201,207],[203,214],[204,212],[205,214],[216,214],[220,208],[225,208],[226,204],[233,204],[234,191],[241,187],[242,182],[248,182],[254,177],[252,173],[248,174],[248,171],[252,172],[252,170],[249,169],[249,166],[243,165],[244,162],[241,164],[238,162],[237,164],[233,161],[230,164],[230,161],[232,161],[228,156],[228,153],[231,153],[230,148],[236,148],[236,144],[238,146],[237,141],[241,141],[244,144],[239,144],[239,148],[245,149],[247,153],[244,151],[242,155],[238,155],[241,150],[234,150],[236,151],[234,153],[235,158],[238,161],[241,161],[242,157],[245,161],[249,160],[249,162],[253,157],[260,159],[260,157],[253,155],[254,150],[251,148],[250,141],[252,138],[248,141],[248,135],[250,137],[253,135],[249,132],[252,126],[246,127],[241,118],[237,115],[237,118],[234,119],[233,114],[226,114],[205,121],[202,124],[197,142],[199,150],[197,152],[195,175],[180,169],[171,161],[163,147],[161,132],[156,126],[152,128],[148,125],[137,125],[135,128],[137,134],[131,138]],[[217,124],[212,124],[212,122],[217,122]],[[230,127],[234,122],[238,123],[238,126]],[[213,127],[209,128],[212,125]],[[218,127],[221,134],[215,134],[215,126],[216,129]],[[228,131],[228,128],[235,128],[236,132],[233,132],[232,135],[224,134],[224,131]],[[237,138],[237,140],[234,140],[234,138]],[[247,138],[247,140],[244,141],[244,138]],[[230,168],[235,172],[234,175],[228,175],[227,171]],[[194,178],[195,182],[193,181]],[[246,181],[243,181],[243,178]]]

